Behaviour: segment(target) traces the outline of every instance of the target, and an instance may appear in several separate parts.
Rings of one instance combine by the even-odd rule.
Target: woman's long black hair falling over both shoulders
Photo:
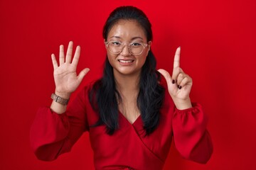
[[[134,6],[121,6],[110,13],[102,33],[105,40],[107,40],[110,29],[119,20],[137,21],[144,29],[147,42],[152,40],[149,19],[142,10]],[[159,84],[159,81],[160,74],[156,71],[156,59],[151,50],[149,50],[142,67],[139,79],[139,94],[137,96],[137,106],[141,113],[146,135],[154,132],[157,125],[159,125],[159,111],[164,101],[164,88]],[[113,67],[107,57],[103,77],[92,86],[89,98],[92,108],[99,113],[99,120],[93,126],[106,125],[107,134],[112,135],[119,128],[117,101],[122,101],[122,98],[116,89]]]

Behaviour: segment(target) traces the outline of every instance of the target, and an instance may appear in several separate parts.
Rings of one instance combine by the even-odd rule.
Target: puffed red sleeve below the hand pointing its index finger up
[[[213,153],[213,143],[206,130],[208,118],[201,105],[193,103],[193,108],[174,113],[173,131],[176,149],[193,162],[206,164]]]

